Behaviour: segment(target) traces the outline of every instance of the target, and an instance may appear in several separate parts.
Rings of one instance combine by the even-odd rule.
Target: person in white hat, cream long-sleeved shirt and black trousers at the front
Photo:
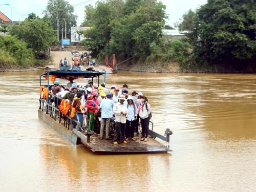
[[[120,95],[119,102],[114,104],[114,114],[116,116],[116,130],[114,134],[113,144],[118,144],[119,135],[121,135],[121,142],[127,144],[127,141],[124,140],[125,136],[125,123],[126,115],[128,114],[127,106],[123,104],[126,100],[124,95]]]

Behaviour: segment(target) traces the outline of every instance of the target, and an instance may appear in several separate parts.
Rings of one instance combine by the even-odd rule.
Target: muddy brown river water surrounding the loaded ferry
[[[40,73],[0,76],[1,191],[256,190],[255,75],[108,74],[148,97],[173,152],[95,155],[37,118]]]

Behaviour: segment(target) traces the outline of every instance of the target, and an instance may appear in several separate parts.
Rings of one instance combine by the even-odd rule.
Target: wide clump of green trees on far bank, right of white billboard
[[[156,0],[108,0],[86,7],[83,45],[93,53],[116,53],[122,58],[146,57],[158,45],[164,26],[165,6]]]

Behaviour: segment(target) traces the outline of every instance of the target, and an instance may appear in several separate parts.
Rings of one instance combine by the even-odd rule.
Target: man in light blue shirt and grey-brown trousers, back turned
[[[100,135],[99,139],[103,139],[103,132],[105,128],[105,139],[109,140],[110,133],[110,120],[113,117],[114,101],[111,99],[113,97],[112,93],[106,94],[106,99],[103,99],[99,105],[101,109],[101,122],[100,122]]]

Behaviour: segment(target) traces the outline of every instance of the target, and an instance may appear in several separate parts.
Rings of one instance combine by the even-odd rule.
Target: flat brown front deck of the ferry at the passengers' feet
[[[149,137],[147,142],[140,141],[140,137],[134,137],[136,141],[129,140],[127,144],[113,144],[112,140],[99,139],[98,134],[90,136],[90,142],[83,133],[73,130],[73,132],[81,139],[92,152],[97,153],[167,153],[172,150],[164,146],[156,139]]]

